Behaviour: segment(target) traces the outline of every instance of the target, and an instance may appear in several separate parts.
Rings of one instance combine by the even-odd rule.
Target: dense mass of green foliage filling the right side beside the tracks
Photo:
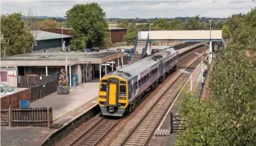
[[[239,25],[227,23],[234,35],[226,53],[217,54],[209,98],[185,96],[179,109],[186,130],[176,145],[256,145],[255,22],[256,8],[239,17]]]

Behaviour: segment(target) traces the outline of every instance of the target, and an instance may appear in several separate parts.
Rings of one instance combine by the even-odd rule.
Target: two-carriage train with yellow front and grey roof
[[[150,88],[155,88],[178,66],[178,51],[166,48],[100,79],[98,105],[102,115],[122,117]]]

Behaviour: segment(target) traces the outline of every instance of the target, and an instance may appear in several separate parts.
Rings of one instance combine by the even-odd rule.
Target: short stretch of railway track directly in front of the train
[[[96,145],[120,120],[121,119],[106,119],[102,117],[98,123],[78,137],[71,145]]]

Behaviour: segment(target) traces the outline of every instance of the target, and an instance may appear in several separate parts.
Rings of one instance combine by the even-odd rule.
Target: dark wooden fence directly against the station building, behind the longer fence
[[[19,88],[31,88],[55,80],[55,76],[18,76]]]

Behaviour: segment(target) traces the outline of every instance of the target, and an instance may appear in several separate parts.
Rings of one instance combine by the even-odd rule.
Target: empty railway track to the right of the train
[[[198,50],[197,50],[198,51]],[[199,49],[199,52],[202,50]],[[190,54],[189,54],[190,55]],[[200,60],[197,60],[195,63],[188,68],[188,71],[192,71],[195,64],[198,64]],[[166,92],[161,96],[161,98],[154,104],[154,106],[142,117],[142,120],[132,129],[128,137],[122,141],[121,145],[146,145],[150,139],[154,129],[165,115],[166,111],[175,100],[180,87],[186,82],[188,75],[181,74],[179,78],[166,90]],[[171,102],[166,102],[171,101]]]

